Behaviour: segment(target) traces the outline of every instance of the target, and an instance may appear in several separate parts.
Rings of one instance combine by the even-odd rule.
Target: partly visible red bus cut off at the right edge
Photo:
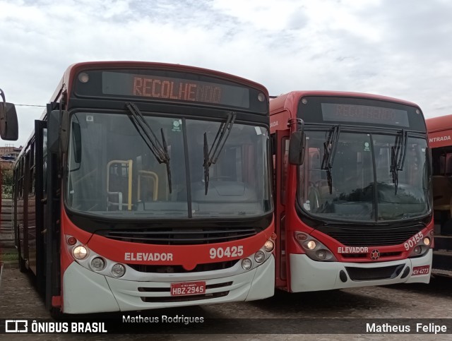
[[[435,244],[432,273],[452,277],[452,115],[426,119],[432,150]]]

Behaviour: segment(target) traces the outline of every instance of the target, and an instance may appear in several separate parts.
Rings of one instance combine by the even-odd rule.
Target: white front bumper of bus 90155
[[[391,285],[397,283],[429,283],[432,271],[432,249],[421,257],[379,263],[340,263],[313,261],[304,254],[290,254],[290,291],[319,290]],[[415,267],[427,267],[413,275]],[[342,274],[341,274],[342,273]]]

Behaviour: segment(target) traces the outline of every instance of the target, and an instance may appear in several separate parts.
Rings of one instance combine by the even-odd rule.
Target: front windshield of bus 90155
[[[299,167],[298,201],[304,212],[332,220],[409,219],[429,210],[427,140],[408,135],[403,169],[394,174],[397,136],[341,131],[331,167],[324,167],[331,131],[307,131]],[[403,148],[404,146],[401,146]],[[400,148],[400,146],[399,146]],[[400,162],[401,164],[401,162]],[[328,174],[329,173],[329,174]]]

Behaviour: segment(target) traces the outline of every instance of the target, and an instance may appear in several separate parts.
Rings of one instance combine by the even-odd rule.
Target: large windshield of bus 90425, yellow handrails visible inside
[[[234,123],[208,168],[221,119],[143,116],[155,135],[143,137],[131,115],[77,112],[71,116],[66,205],[104,216],[144,218],[250,217],[272,210],[268,131]],[[169,164],[163,162],[169,157]]]

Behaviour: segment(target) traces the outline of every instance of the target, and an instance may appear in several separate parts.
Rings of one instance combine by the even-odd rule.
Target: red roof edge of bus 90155
[[[364,93],[364,92],[299,90],[299,91],[287,92],[284,95],[280,95],[280,96],[275,97],[272,100],[270,100],[270,114],[272,112],[280,112],[280,110],[282,110],[282,109],[285,109],[287,107],[293,107],[293,105],[297,105],[299,99],[304,96],[361,97],[361,98],[371,97],[373,100],[381,100],[381,101],[386,101],[386,102],[398,102],[400,104],[410,105],[412,107],[419,108],[419,106],[413,102],[408,102],[405,100],[400,100],[398,98],[387,97],[387,96],[382,96],[382,95],[372,95],[372,94]]]

